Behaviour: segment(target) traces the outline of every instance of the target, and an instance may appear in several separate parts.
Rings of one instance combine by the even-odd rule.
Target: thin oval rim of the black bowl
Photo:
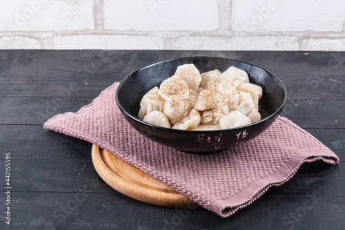
[[[153,66],[155,64],[159,64],[159,62],[164,62],[164,61],[172,61],[172,60],[177,60],[177,59],[188,59],[188,58],[194,58],[194,57],[198,57],[198,58],[220,58],[220,59],[228,59],[228,60],[232,60],[232,61],[239,61],[242,62],[244,64],[249,64],[251,66],[255,66],[257,68],[260,68],[262,70],[264,70],[266,73],[268,73],[269,75],[271,75],[273,78],[275,78],[275,80],[277,80],[277,82],[279,82],[282,85],[283,91],[284,91],[284,101],[282,102],[282,105],[279,106],[279,108],[277,108],[273,113],[271,113],[270,115],[268,115],[267,117],[265,117],[264,119],[260,119],[257,122],[251,123],[251,124],[247,124],[246,126],[239,126],[239,127],[235,127],[235,128],[226,128],[226,129],[215,129],[215,130],[206,130],[206,131],[201,131],[201,130],[181,130],[181,129],[176,129],[176,128],[166,128],[166,127],[162,127],[162,126],[156,126],[155,124],[150,124],[148,122],[144,122],[143,120],[139,119],[139,117],[136,117],[130,113],[128,113],[128,111],[126,111],[126,109],[121,105],[121,103],[119,102],[118,99],[118,94],[119,94],[119,90],[121,89],[121,86],[128,81],[128,79],[130,78],[131,75],[133,75],[134,73],[136,73],[137,71],[143,69],[143,68],[147,68],[148,66]],[[229,66],[230,67],[230,66]],[[154,128],[154,129],[159,129],[161,131],[167,131],[170,133],[228,133],[228,132],[233,132],[233,131],[237,131],[237,130],[242,130],[245,129],[247,127],[250,126],[254,126],[255,124],[259,124],[259,123],[263,123],[266,122],[268,119],[275,117],[275,115],[277,115],[278,113],[280,113],[282,111],[282,109],[284,108],[284,106],[286,105],[288,99],[288,94],[287,94],[287,90],[285,85],[283,84],[282,80],[279,79],[279,77],[277,77],[276,75],[274,75],[273,73],[270,73],[270,71],[266,70],[265,68],[262,68],[261,66],[257,66],[255,64],[252,64],[248,61],[242,61],[239,59],[232,59],[232,58],[228,58],[228,57],[217,57],[217,56],[204,56],[204,55],[196,55],[196,56],[181,56],[181,57],[174,57],[174,58],[169,58],[169,59],[161,59],[159,61],[155,61],[152,62],[150,64],[146,64],[144,66],[141,66],[140,68],[137,68],[136,70],[133,70],[131,73],[129,73],[128,75],[126,75],[126,77],[124,77],[124,79],[121,80],[121,82],[119,83],[119,86],[117,87],[116,93],[115,93],[115,100],[117,103],[117,106],[119,106],[119,108],[121,109],[121,111],[123,113],[125,113],[128,117],[130,117],[130,119],[135,120],[135,122],[138,122],[141,125],[144,126],[148,126],[150,128]]]

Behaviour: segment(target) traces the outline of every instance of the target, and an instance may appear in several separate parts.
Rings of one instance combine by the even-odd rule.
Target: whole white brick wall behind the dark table
[[[345,50],[345,1],[0,1],[0,48]]]

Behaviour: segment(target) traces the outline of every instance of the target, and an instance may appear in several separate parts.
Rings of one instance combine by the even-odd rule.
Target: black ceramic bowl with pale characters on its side
[[[250,82],[263,88],[259,100],[262,119],[247,126],[217,131],[182,131],[143,122],[138,118],[141,98],[171,77],[182,64],[194,64],[200,73],[216,68],[224,72],[230,66],[246,71]],[[244,61],[222,57],[180,57],[158,61],[130,73],[117,88],[116,102],[127,121],[151,140],[187,153],[208,154],[243,144],[265,131],[286,104],[286,88],[272,73]]]

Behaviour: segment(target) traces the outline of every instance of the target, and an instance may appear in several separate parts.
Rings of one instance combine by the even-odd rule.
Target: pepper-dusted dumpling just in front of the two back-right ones
[[[237,77],[226,77],[213,80],[208,85],[208,90],[216,90],[224,97],[228,96],[233,90],[243,83],[242,79]]]

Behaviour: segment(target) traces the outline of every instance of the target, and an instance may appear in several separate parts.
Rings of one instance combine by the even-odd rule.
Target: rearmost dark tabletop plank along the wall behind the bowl
[[[153,61],[203,53],[263,65],[263,68],[277,75],[286,84],[290,99],[336,99],[344,96],[345,52],[311,52],[311,55],[304,55],[303,52],[209,53],[172,50],[28,50],[12,52],[10,55],[6,53],[6,57],[0,55],[7,64],[6,68],[0,68],[0,95],[96,96],[95,88],[106,88],[136,68]],[[294,71],[291,71],[291,66]]]

